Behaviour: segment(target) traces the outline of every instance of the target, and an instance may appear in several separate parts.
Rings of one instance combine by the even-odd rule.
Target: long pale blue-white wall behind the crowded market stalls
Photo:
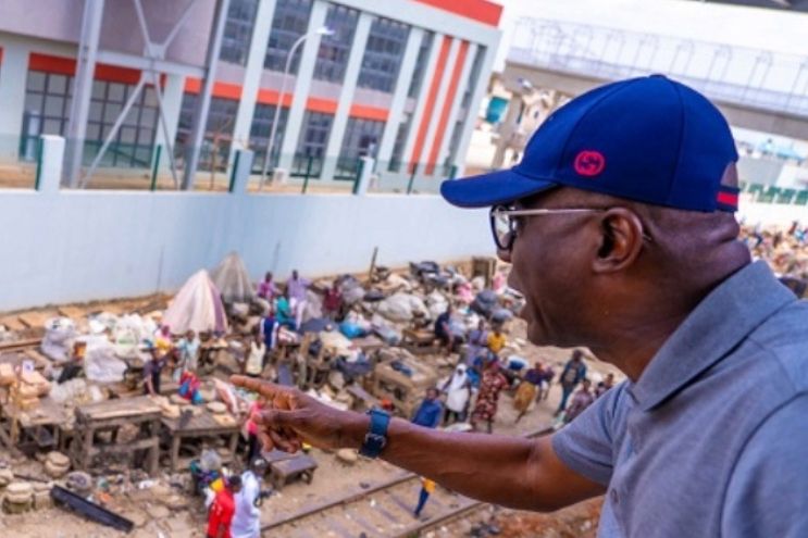
[[[238,251],[258,279],[494,252],[487,215],[435,196],[0,191],[0,311],[174,290]]]

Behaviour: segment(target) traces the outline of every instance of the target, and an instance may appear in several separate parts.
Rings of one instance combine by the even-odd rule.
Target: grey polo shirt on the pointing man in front
[[[747,265],[552,447],[608,486],[600,537],[808,537],[808,302]]]

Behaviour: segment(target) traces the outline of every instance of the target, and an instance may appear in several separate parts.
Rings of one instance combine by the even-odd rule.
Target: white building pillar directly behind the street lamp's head
[[[311,79],[314,76],[314,62],[316,62],[318,51],[320,50],[320,36],[314,32],[325,25],[327,12],[328,3],[322,0],[315,0],[314,5],[311,7],[309,27],[306,30],[310,37],[303,45],[300,65],[297,70],[297,77],[295,77],[295,88],[291,90],[291,107],[289,107],[289,116],[286,121],[284,143],[281,146],[281,160],[278,161],[278,167],[281,168],[291,168],[297,141],[302,128],[303,114],[306,113],[306,100],[309,97]]]

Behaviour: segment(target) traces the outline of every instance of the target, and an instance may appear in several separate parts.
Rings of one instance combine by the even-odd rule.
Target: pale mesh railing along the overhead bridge
[[[525,18],[508,60],[607,80],[662,73],[713,99],[808,116],[808,57]]]

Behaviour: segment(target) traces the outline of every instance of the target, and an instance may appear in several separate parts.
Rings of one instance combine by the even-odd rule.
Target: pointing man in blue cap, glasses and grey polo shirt
[[[236,378],[273,401],[264,443],[356,447],[519,509],[606,495],[601,537],[808,536],[808,306],[737,240],[736,160],[705,97],[650,76],[559,109],[513,168],[443,185],[492,208],[530,340],[627,376],[560,431],[447,434]]]

